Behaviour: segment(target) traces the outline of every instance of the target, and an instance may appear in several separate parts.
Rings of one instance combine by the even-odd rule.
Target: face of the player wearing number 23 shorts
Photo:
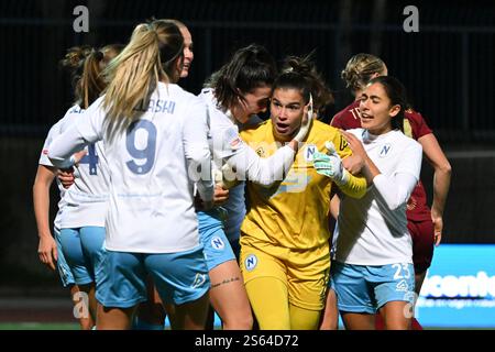
[[[392,130],[391,121],[399,112],[399,106],[391,106],[385,89],[378,82],[366,86],[360,97],[361,127],[372,134]]]

